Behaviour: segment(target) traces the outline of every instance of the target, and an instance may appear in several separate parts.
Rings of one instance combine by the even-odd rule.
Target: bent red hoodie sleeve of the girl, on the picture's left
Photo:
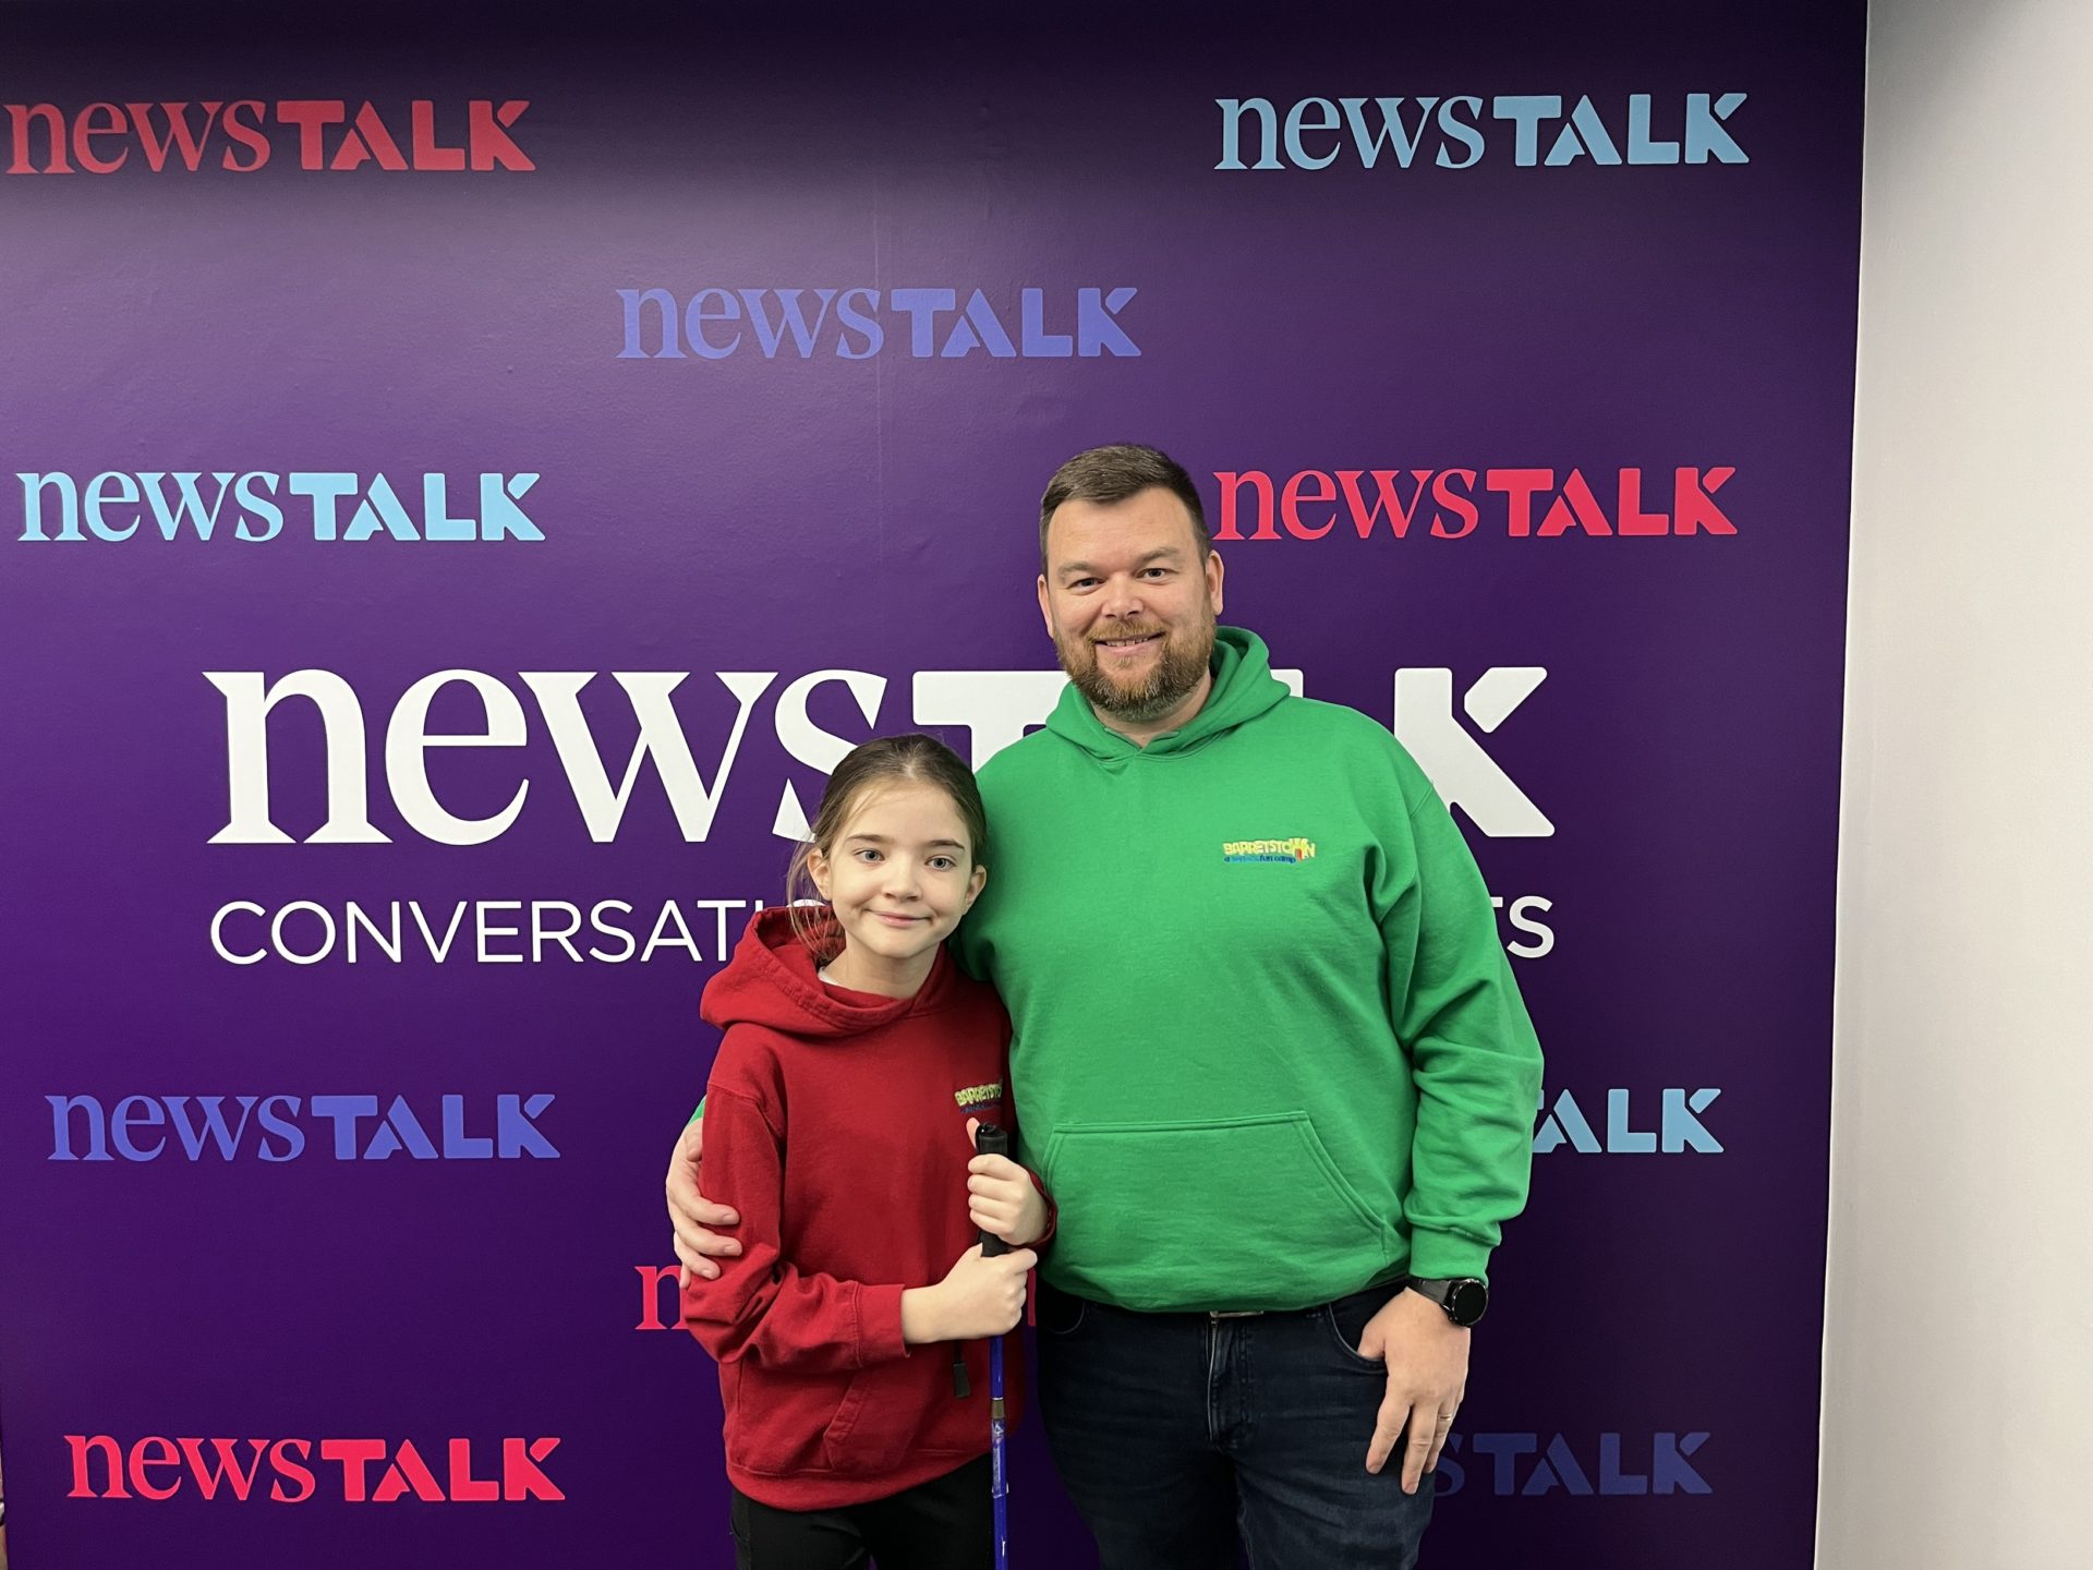
[[[785,1143],[764,1107],[714,1084],[705,1095],[705,1197],[741,1212],[741,1254],[716,1281],[691,1277],[682,1323],[720,1363],[843,1373],[906,1356],[902,1287],[802,1271],[779,1250]]]

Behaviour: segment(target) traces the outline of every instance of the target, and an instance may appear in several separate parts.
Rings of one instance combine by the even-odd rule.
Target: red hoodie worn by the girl
[[[833,988],[762,911],[705,988],[726,1032],[705,1086],[705,1197],[737,1258],[693,1279],[682,1323],[720,1361],[726,1476],[779,1509],[887,1499],[988,1449],[988,1344],[902,1344],[902,1287],[944,1279],[967,1220],[967,1118],[1011,1120],[1011,1024],[940,948],[913,999]],[[1017,1421],[1017,1342],[1005,1407]]]

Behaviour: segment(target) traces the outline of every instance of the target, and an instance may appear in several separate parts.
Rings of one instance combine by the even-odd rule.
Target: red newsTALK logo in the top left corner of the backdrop
[[[414,98],[379,109],[354,98],[180,98],[161,103],[10,103],[6,174],[253,174],[270,163],[341,174],[536,170],[511,130],[530,98]]]

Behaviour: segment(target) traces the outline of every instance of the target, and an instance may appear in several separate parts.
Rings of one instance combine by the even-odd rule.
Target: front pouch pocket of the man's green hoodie
[[[1293,1306],[1300,1283],[1371,1279],[1392,1243],[1306,1112],[1063,1126],[1044,1166],[1063,1285],[1126,1308]]]

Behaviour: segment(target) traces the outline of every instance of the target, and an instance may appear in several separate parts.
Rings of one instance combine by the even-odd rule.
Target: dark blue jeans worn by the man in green
[[[1323,1308],[1134,1315],[1040,1287],[1038,1396],[1105,1570],[1409,1570],[1432,1476],[1367,1440],[1388,1390],[1358,1336],[1400,1283]],[[1241,1534],[1241,1537],[1237,1537]]]

